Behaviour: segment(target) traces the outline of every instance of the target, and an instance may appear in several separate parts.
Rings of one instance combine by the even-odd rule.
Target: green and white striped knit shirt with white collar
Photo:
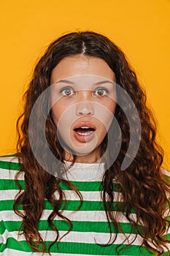
[[[9,165],[10,162],[10,165]],[[10,169],[10,170],[9,170]],[[3,256],[27,256],[27,255],[42,255],[42,253],[33,252],[28,245],[25,236],[18,236],[18,230],[22,219],[18,217],[13,211],[13,203],[15,195],[18,192],[18,187],[15,184],[15,174],[20,170],[18,159],[13,157],[0,158],[0,255]],[[165,174],[169,176],[166,170]],[[63,215],[72,221],[72,231],[61,238],[57,244],[54,244],[50,250],[52,256],[63,255],[154,255],[144,246],[140,248],[142,238],[135,234],[132,224],[123,214],[120,214],[120,226],[129,236],[129,243],[136,240],[125,248],[125,236],[119,231],[117,239],[114,244],[110,246],[101,246],[98,244],[107,244],[109,241],[109,226],[107,223],[104,205],[101,201],[101,178],[104,174],[103,164],[80,164],[75,163],[68,172],[68,178],[72,181],[82,194],[83,203],[79,211],[75,211],[80,206],[80,198],[61,181],[61,188],[66,193],[66,209]],[[24,189],[24,178],[21,175],[19,178],[21,187]],[[119,200],[117,195],[117,186],[114,184],[115,202]],[[56,197],[57,197],[56,193]],[[115,211],[116,211],[116,205]],[[47,217],[53,211],[53,207],[45,200],[45,208],[41,219],[39,220],[39,233],[45,240],[47,247],[55,239],[55,232],[51,230],[47,223]],[[135,212],[131,212],[131,217],[136,219]],[[55,217],[53,223],[59,230],[60,237],[63,236],[68,230],[69,225]],[[114,233],[114,227],[112,227]],[[133,233],[134,232],[134,233]],[[170,235],[169,235],[170,239]],[[123,242],[125,243],[123,244]],[[117,246],[119,246],[117,248]],[[46,255],[46,254],[45,254]],[[164,255],[169,255],[165,253]]]

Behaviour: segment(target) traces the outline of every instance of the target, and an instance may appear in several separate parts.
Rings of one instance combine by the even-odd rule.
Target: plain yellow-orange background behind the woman
[[[123,49],[147,91],[170,169],[169,0],[1,0],[0,154],[15,151],[15,123],[31,71],[70,31],[101,32]]]

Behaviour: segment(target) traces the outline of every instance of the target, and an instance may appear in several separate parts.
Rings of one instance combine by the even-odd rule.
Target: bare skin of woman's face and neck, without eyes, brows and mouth
[[[100,77],[101,82],[104,80],[115,81],[115,73],[103,59],[77,55],[66,57],[59,62],[51,74],[51,84],[56,83],[56,90],[59,90],[60,86],[61,89],[62,86],[64,88],[68,86],[70,90],[72,85],[58,81],[63,79],[70,81],[74,76],[80,76],[82,80],[85,80],[86,76],[83,75],[90,75],[88,77],[92,80]],[[99,95],[98,91],[95,91],[96,87],[94,86],[93,89],[92,87],[90,89],[83,88],[74,93],[72,90],[70,95],[66,95],[66,91],[56,92],[55,89],[51,92],[52,102],[55,100],[53,99],[55,94],[60,94],[52,107],[53,120],[59,132],[61,131],[60,134],[64,142],[76,152],[76,162],[100,162],[98,149],[107,135],[112,120],[111,116],[115,113],[116,102],[114,99],[105,93]],[[112,83],[103,82],[100,87],[113,91]],[[89,141],[80,141],[74,136],[74,127],[84,123],[95,127],[94,136]],[[68,152],[66,149],[65,152],[65,159],[72,161],[70,151]]]

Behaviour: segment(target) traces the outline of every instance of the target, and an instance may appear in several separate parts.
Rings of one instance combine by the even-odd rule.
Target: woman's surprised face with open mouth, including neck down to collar
[[[115,73],[103,59],[70,56],[51,75],[52,115],[66,160],[99,161],[99,146],[115,112]]]

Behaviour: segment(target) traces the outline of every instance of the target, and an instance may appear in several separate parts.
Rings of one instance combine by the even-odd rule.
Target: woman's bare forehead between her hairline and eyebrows
[[[115,73],[106,61],[89,56],[70,56],[62,59],[53,69],[51,83],[77,75],[96,75],[115,81]]]

